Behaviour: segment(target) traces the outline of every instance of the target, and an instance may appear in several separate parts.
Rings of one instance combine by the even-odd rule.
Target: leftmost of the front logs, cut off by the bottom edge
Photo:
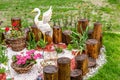
[[[58,80],[58,68],[48,65],[43,68],[44,80]]]

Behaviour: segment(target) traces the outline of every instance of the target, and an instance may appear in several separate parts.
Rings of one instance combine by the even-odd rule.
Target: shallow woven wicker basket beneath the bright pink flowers
[[[30,63],[29,65],[27,65],[26,67],[19,67],[15,62],[12,62],[11,67],[19,74],[22,73],[27,73],[28,71],[31,70],[31,68],[33,67],[34,63]]]

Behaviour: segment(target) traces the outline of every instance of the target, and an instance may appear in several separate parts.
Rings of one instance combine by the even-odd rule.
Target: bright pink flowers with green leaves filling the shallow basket
[[[36,63],[36,59],[40,58],[41,54],[35,54],[35,50],[29,50],[25,53],[25,55],[14,55],[12,57],[13,62],[19,67],[26,67],[28,64]]]

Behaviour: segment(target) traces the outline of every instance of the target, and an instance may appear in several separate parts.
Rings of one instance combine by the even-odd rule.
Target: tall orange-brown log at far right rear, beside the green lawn
[[[102,24],[99,22],[94,23],[93,39],[100,41],[101,34],[102,34]]]

